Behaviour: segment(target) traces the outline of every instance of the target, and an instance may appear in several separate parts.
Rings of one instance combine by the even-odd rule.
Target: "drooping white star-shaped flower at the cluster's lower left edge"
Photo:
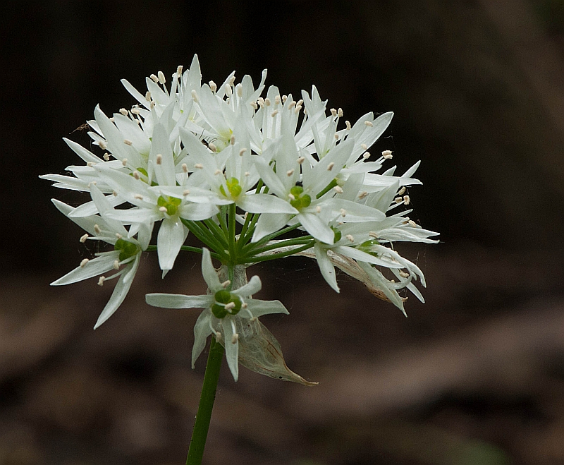
[[[118,281],[116,282],[114,292],[111,294],[104,310],[102,310],[96,325],[94,325],[95,330],[114,314],[118,307],[121,306],[125,296],[127,296],[139,267],[141,253],[149,245],[151,234],[147,229],[140,229],[137,232],[137,239],[131,237],[120,222],[110,217],[109,213],[114,211],[114,207],[110,205],[104,194],[94,185],[91,186],[91,195],[101,216],[72,217],[71,214],[76,210],[75,208],[56,199],[53,199],[53,203],[63,215],[72,219],[73,222],[93,236],[87,237],[85,235],[82,236],[83,238],[98,239],[110,243],[114,246],[114,250],[97,253],[97,258],[93,260],[85,258],[78,267],[52,282],[51,286],[72,284],[83,279],[99,276],[111,270],[116,270],[116,273],[110,277],[102,276],[99,278],[98,284],[100,286],[109,279],[118,278]]]

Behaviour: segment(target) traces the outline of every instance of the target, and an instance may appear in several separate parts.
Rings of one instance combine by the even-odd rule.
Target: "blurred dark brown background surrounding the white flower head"
[[[8,3],[8,2],[6,2]],[[22,1],[1,16],[0,464],[182,464],[204,358],[197,311],[148,291],[200,293],[197,258],[164,282],[147,256],[120,310],[111,292],[49,282],[94,248],[49,202],[39,174],[77,162],[61,138],[133,104],[200,56],[281,92],[317,85],[351,121],[395,111],[381,150],[436,246],[398,250],[425,272],[409,318],[314,262],[257,266],[264,318],[290,368],[318,387],[242,370],[220,380],[207,464],[564,464],[564,3],[470,1]],[[69,136],[69,133],[71,135]],[[225,367],[224,367],[225,368]]]

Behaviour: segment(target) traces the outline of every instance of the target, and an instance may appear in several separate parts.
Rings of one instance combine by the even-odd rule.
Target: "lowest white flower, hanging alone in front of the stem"
[[[194,327],[194,347],[192,349],[192,368],[202,353],[209,334],[214,334],[226,349],[226,358],[233,378],[239,376],[238,320],[254,320],[269,313],[286,313],[288,310],[279,301],[259,301],[250,296],[261,289],[259,277],[253,276],[250,282],[239,289],[228,291],[229,282],[219,282],[212,258],[207,248],[203,249],[202,276],[212,294],[184,296],[180,294],[147,294],[147,303],[163,308],[204,308]],[[247,298],[248,297],[248,298]]]

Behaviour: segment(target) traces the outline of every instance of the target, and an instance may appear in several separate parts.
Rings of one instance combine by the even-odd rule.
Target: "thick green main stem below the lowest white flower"
[[[223,361],[223,346],[216,342],[212,336],[212,344],[209,346],[209,356],[207,357],[206,374],[204,375],[204,385],[200,395],[200,405],[196,413],[190,449],[186,458],[186,465],[202,464],[204,447],[206,446],[209,421],[212,419],[212,409],[216,399],[217,381],[219,380],[219,369]]]

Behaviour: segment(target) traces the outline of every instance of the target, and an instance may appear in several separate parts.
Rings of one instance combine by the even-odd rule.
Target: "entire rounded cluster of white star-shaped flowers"
[[[301,98],[281,95],[271,86],[262,97],[266,71],[255,88],[250,76],[236,83],[231,73],[221,85],[202,84],[197,56],[190,68],[178,67],[168,85],[164,73],[147,78],[143,94],[128,81],[137,100],[131,109],[106,116],[96,107],[90,137],[95,155],[65,139],[83,164],[69,176],[43,179],[60,188],[90,193],[90,201],[71,207],[53,200],[68,218],[87,231],[80,241],[98,240],[114,250],[98,253],[52,284],[99,277],[118,278],[114,294],[96,327],[121,305],[145,250],[157,250],[163,277],[180,250],[203,254],[202,273],[212,294],[150,294],[147,302],[164,307],[200,307],[194,360],[214,334],[226,344],[237,377],[237,318],[283,312],[279,302],[247,299],[260,288],[258,278],[233,286],[236,265],[302,254],[317,260],[326,282],[339,291],[335,267],[362,279],[382,298],[403,310],[408,289],[422,300],[415,282],[424,277],[402,258],[393,241],[435,242],[436,233],[407,217],[406,187],[419,163],[403,175],[395,167],[379,171],[390,150],[367,150],[384,133],[393,114],[367,113],[356,123],[341,109],[326,109],[315,87]],[[158,232],[155,225],[158,224]],[[207,248],[184,246],[188,234]],[[156,235],[156,246],[149,245]],[[223,284],[212,258],[225,265]],[[386,277],[384,274],[387,274]],[[233,289],[235,287],[235,289]],[[223,337],[221,334],[223,333]]]

